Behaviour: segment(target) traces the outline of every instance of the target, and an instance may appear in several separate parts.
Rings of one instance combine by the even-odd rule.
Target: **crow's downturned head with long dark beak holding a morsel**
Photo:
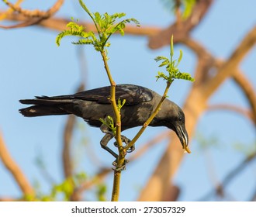
[[[162,116],[162,126],[167,126],[169,129],[175,131],[178,139],[182,143],[182,148],[187,152],[191,153],[189,150],[189,136],[187,130],[185,129],[185,115],[182,108],[178,107],[174,102],[165,100],[165,105],[162,106],[159,113]],[[170,109],[171,108],[171,109]]]

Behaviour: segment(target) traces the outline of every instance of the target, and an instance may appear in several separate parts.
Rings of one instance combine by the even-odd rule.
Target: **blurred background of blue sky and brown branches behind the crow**
[[[114,159],[100,147],[99,129],[73,116],[30,119],[18,112],[19,99],[109,85],[93,47],[73,45],[71,37],[61,47],[55,43],[71,17],[88,29],[92,21],[76,0],[9,2],[23,10],[0,2],[0,200],[109,201]],[[55,2],[56,13],[47,17],[26,14],[45,12]],[[117,84],[162,94],[154,57],[169,56],[172,34],[175,57],[183,51],[179,69],[196,80],[177,80],[168,94],[184,108],[192,153],[183,153],[168,129],[148,127],[127,155],[119,200],[254,201],[256,2],[84,2],[92,12],[125,12],[140,21],[140,28],[128,25],[125,36],[110,39]],[[123,135],[132,139],[138,130]]]

